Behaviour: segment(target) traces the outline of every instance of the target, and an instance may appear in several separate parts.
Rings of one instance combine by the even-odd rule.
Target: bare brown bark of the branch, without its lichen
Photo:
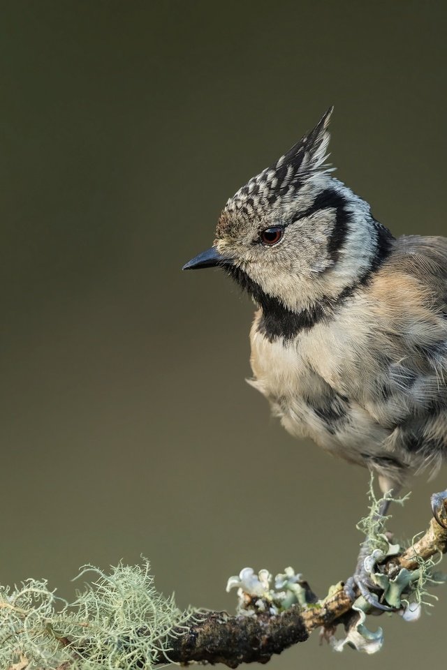
[[[446,496],[440,503],[447,514]],[[420,569],[421,562],[446,551],[447,529],[432,519],[418,542],[381,564],[381,573],[393,578],[402,568],[415,572]],[[272,655],[306,641],[316,628],[333,630],[339,623],[344,623],[346,615],[354,613],[352,607],[359,596],[357,589],[349,592],[340,582],[325,599],[305,607],[295,604],[279,614],[229,616],[226,612],[205,613],[202,620],[187,630],[174,630],[168,639],[168,654],[160,653],[157,660],[165,662],[168,659],[182,664],[223,663],[230,668],[241,663],[266,663]]]

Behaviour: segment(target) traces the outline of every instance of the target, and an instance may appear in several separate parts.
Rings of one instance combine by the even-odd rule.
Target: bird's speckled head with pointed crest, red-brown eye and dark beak
[[[213,246],[184,269],[222,267],[257,304],[297,312],[353,281],[371,251],[358,230],[369,206],[325,164],[331,114],[228,200]]]

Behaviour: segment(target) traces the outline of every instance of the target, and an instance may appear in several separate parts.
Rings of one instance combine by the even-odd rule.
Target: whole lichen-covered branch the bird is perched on
[[[433,499],[438,521],[432,519],[417,542],[400,550],[388,533],[379,532],[383,528],[374,526],[365,561],[375,596],[406,618],[414,616],[411,601],[418,606],[427,594],[434,557],[447,551],[447,492]],[[369,519],[376,523],[374,505]],[[367,521],[362,528],[372,528]],[[367,614],[379,612],[343,581],[318,600],[291,568],[274,581],[266,570],[256,575],[246,568],[228,581],[228,589],[238,588],[239,595],[237,614],[230,616],[216,611],[182,613],[172,599],[156,593],[148,569],[147,564],[119,566],[110,574],[94,569],[99,579],[75,603],[59,610],[46,583],[29,580],[21,590],[0,589],[0,666],[137,670],[173,661],[235,668],[266,663],[272,655],[306,641],[317,628],[337,650],[349,644],[373,653],[381,646],[380,629],[370,632],[365,626]],[[340,624],[345,637],[337,640]]]

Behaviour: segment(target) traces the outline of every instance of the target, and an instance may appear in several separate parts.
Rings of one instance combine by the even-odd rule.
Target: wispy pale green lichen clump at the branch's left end
[[[1,668],[26,658],[27,670],[53,670],[74,657],[73,670],[149,670],[170,630],[193,615],[156,591],[147,561],[108,573],[87,565],[79,576],[87,573],[94,580],[72,603],[46,580],[0,587]]]

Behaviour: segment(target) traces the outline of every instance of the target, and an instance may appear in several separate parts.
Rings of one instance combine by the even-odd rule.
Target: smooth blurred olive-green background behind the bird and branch
[[[82,563],[143,554],[184,606],[232,610],[246,565],[293,565],[323,595],[354,567],[367,473],[270,418],[244,382],[253,306],[180,268],[331,104],[337,176],[395,234],[445,234],[445,3],[0,10],[1,581],[71,597]],[[404,536],[445,477],[395,509]],[[370,621],[378,657],[315,635],[270,667],[435,664],[437,594],[419,623]]]

